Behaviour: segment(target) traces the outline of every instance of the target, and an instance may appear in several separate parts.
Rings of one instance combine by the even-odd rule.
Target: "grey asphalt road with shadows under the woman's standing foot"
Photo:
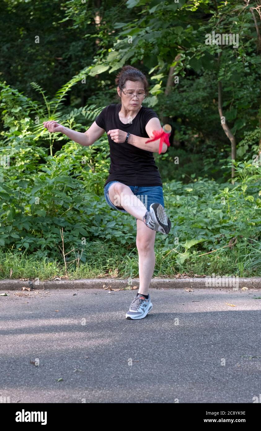
[[[125,319],[137,290],[7,293],[0,396],[10,403],[253,403],[261,394],[261,290],[151,289],[153,309],[137,321]]]

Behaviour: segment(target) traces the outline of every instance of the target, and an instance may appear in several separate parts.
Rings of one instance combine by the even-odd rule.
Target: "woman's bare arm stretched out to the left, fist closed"
[[[92,145],[105,133],[105,130],[99,127],[95,121],[84,133],[71,130],[68,127],[62,126],[56,121],[44,121],[43,124],[50,133],[61,132],[68,136],[72,141],[75,141],[85,147]]]

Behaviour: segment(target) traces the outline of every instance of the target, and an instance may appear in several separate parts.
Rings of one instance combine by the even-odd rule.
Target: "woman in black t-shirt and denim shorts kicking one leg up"
[[[108,135],[111,166],[104,186],[106,202],[137,220],[140,288],[126,313],[127,319],[136,320],[152,309],[148,290],[155,267],[155,234],[168,234],[171,222],[164,210],[162,180],[153,157],[159,140],[145,144],[153,130],[161,129],[157,114],[142,106],[148,81],[140,70],[124,66],[115,83],[121,103],[106,106],[85,133],[55,121],[44,122],[44,127],[85,146],[92,145],[105,131]],[[162,152],[166,150],[167,144],[163,144]]]

